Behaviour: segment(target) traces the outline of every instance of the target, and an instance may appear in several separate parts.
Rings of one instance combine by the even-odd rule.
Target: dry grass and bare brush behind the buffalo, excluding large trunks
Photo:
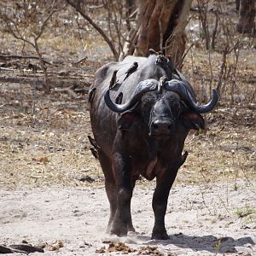
[[[205,134],[191,133],[187,140],[188,164],[177,182],[227,178],[236,187],[239,177],[255,178],[255,31],[236,32],[236,2],[192,1],[178,39],[182,54],[171,53],[200,102],[212,88],[220,95]],[[104,63],[129,53],[148,55],[150,45],[142,53],[132,39],[139,7],[129,9],[130,3],[0,3],[1,186],[102,186],[87,142],[87,92]],[[168,38],[155,37],[160,46],[154,49],[167,53]]]

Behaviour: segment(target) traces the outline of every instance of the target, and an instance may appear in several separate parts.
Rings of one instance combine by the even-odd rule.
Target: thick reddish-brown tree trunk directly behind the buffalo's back
[[[178,64],[185,49],[184,28],[192,0],[137,1],[137,27],[131,29],[125,55],[147,56],[148,49],[171,55]]]

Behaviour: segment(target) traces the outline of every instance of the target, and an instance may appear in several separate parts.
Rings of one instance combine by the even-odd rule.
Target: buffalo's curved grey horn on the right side
[[[173,79],[164,84],[166,90],[172,90],[177,92],[179,96],[183,98],[183,101],[189,105],[189,108],[194,109],[197,113],[208,113],[210,112],[218,102],[218,93],[215,89],[212,89],[212,99],[206,105],[198,106],[189,90],[185,87],[182,81]]]

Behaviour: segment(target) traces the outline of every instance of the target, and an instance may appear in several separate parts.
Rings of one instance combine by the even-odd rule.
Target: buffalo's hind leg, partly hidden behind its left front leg
[[[113,217],[116,212],[117,207],[117,189],[113,177],[112,163],[111,160],[102,152],[99,152],[99,160],[102,166],[102,171],[105,177],[105,190],[108,196],[108,201],[110,205],[110,217],[108,220],[108,230],[110,232],[111,225],[113,223]]]

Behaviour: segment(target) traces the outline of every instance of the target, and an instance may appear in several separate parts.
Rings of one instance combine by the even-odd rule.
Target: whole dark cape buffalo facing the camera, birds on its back
[[[134,62],[137,68],[127,76]],[[204,129],[201,113],[216,106],[216,90],[210,102],[199,105],[188,81],[165,55],[128,56],[96,72],[89,102],[95,137],[90,141],[104,172],[110,204],[108,231],[117,236],[135,231],[131,196],[142,175],[148,180],[156,177],[152,238],[168,239],[166,205],[177,170],[187,157],[183,144],[190,129]]]

